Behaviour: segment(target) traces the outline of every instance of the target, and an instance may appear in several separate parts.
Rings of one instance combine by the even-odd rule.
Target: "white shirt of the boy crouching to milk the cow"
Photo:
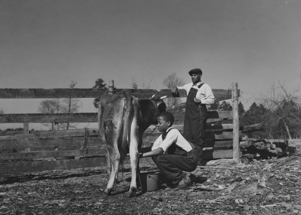
[[[169,129],[171,129],[170,127]],[[166,132],[169,130],[167,129]],[[167,154],[167,149],[170,147],[171,144],[175,143],[186,152],[192,150],[192,147],[189,142],[182,136],[182,134],[177,129],[171,129],[170,132],[166,135],[165,140],[162,139],[162,134],[156,139],[154,145],[152,147],[152,151],[158,148],[163,149],[164,154]]]

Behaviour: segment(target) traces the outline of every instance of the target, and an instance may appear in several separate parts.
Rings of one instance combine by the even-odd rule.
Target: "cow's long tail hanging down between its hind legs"
[[[124,115],[123,115],[123,137],[122,137],[122,145],[120,149],[120,159],[119,163],[123,167],[123,160],[127,155],[127,147],[128,145],[128,128],[130,125],[130,116],[132,112],[132,101],[133,98],[131,96],[131,92],[129,90],[123,91],[123,96],[125,98],[125,107],[124,107]]]

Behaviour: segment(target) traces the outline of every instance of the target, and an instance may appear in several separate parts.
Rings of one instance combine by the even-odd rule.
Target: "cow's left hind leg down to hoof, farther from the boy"
[[[112,192],[115,177],[118,173],[119,158],[120,158],[120,154],[119,154],[119,151],[118,151],[118,148],[117,148],[117,144],[115,144],[114,146],[109,146],[108,145],[108,150],[109,150],[109,154],[110,154],[110,157],[108,157],[108,159],[111,159],[112,171],[111,171],[111,175],[110,175],[110,179],[109,179],[107,188],[104,190],[104,193],[107,196],[110,195],[111,192]]]

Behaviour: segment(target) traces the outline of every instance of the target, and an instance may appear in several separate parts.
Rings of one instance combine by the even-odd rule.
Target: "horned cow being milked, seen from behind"
[[[128,197],[136,196],[136,172],[139,159],[138,149],[142,145],[143,132],[151,125],[157,124],[157,117],[165,112],[163,99],[153,95],[151,99],[137,99],[129,90],[116,94],[104,94],[100,98],[98,125],[100,137],[108,146],[112,170],[107,188],[103,191],[110,195],[118,172],[129,148],[132,179]],[[109,159],[109,158],[108,158]],[[138,167],[139,168],[139,167]]]

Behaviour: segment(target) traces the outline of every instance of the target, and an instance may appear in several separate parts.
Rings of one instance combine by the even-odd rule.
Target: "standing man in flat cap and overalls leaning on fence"
[[[177,94],[178,89],[184,89],[187,92],[187,101],[185,108],[185,120],[183,128],[183,136],[187,141],[197,145],[198,163],[202,165],[202,152],[205,144],[206,120],[208,118],[206,105],[213,105],[215,98],[212,89],[208,84],[201,82],[201,69],[193,69],[189,71],[192,83],[184,86],[173,86],[172,94]]]

